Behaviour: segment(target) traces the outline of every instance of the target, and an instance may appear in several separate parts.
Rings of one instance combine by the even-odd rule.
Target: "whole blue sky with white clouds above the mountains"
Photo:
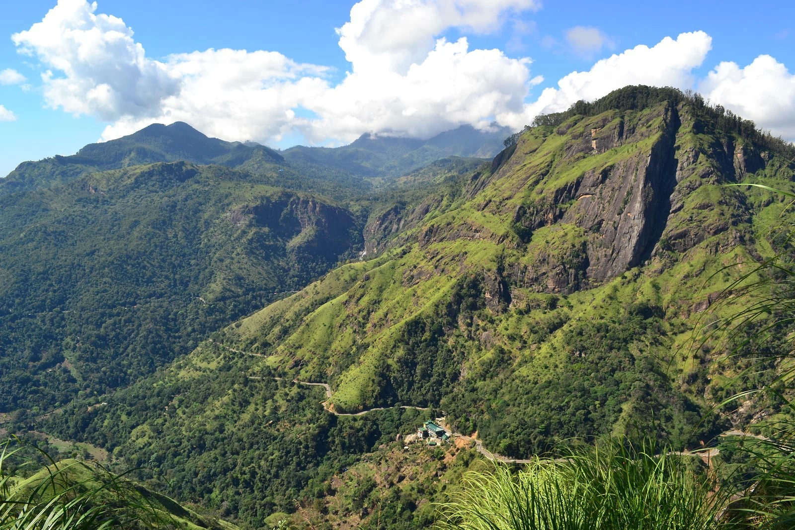
[[[3,3],[0,72],[13,73],[0,73],[0,105],[13,119],[0,121],[0,175],[155,121],[184,119],[224,139],[280,147],[339,145],[369,131],[521,127],[630,82],[696,88],[795,139],[795,2],[414,0],[406,10],[365,0],[354,16],[355,2],[339,0],[98,0],[95,9],[61,0],[48,25],[16,43],[12,35],[56,2]],[[123,22],[92,21],[101,14]],[[346,24],[343,44],[335,28]],[[129,29],[122,41],[110,33]],[[677,38],[687,32],[703,33]],[[435,44],[441,37],[447,47]],[[636,49],[665,37],[673,44]],[[138,45],[145,56],[136,56]],[[135,88],[114,69],[131,61],[126,79],[138,80]],[[588,74],[559,86],[571,72]]]

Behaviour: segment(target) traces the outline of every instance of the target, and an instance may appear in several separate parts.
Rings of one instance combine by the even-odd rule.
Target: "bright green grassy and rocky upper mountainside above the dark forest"
[[[725,184],[792,174],[783,163],[747,138],[718,134],[688,103],[533,127],[461,178],[454,201],[432,192],[371,218],[366,258],[376,259],[266,308],[233,340],[328,381],[338,411],[433,403],[436,391],[411,390],[429,381],[477,386],[478,376],[462,374],[483,372],[497,345],[541,371],[550,359],[580,362],[588,352],[560,345],[602,331],[576,322],[622,322],[635,303],[654,318],[708,306],[715,295],[701,292],[703,275],[756,251],[750,216],[766,205]],[[537,349],[545,357],[529,353]],[[422,370],[401,368],[420,357]]]

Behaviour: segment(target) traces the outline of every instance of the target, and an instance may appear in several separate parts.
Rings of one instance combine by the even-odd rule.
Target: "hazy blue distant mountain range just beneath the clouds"
[[[510,131],[481,132],[463,126],[429,140],[365,134],[348,146],[297,146],[282,153],[257,142],[208,138],[187,123],[155,123],[108,142],[92,143],[72,156],[23,162],[0,179],[0,194],[56,185],[87,173],[154,162],[216,164],[266,177],[278,187],[338,199],[378,186],[376,177],[401,177],[449,156],[491,157]]]

